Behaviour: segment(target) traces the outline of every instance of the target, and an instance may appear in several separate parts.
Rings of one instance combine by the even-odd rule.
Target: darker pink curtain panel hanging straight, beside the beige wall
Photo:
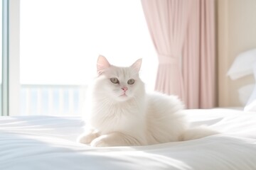
[[[183,48],[187,108],[215,106],[215,0],[193,0]]]

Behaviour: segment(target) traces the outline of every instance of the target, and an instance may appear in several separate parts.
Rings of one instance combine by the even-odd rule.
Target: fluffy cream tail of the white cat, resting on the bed
[[[188,128],[187,130],[185,130],[183,134],[180,136],[180,140],[196,140],[210,135],[217,135],[219,133],[220,132],[212,130],[206,126],[199,126],[196,128]]]

